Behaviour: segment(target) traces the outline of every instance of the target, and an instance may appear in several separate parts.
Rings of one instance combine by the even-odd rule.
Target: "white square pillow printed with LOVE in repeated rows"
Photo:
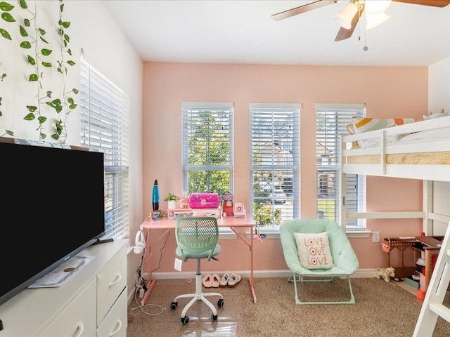
[[[294,233],[300,265],[307,269],[334,267],[328,233]]]

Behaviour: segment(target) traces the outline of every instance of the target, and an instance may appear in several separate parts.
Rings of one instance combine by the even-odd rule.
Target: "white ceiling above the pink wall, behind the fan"
[[[432,65],[450,57],[450,5],[392,2],[390,19],[335,42],[348,1],[276,21],[312,1],[102,0],[144,61],[283,65]],[[364,46],[368,51],[364,51]]]

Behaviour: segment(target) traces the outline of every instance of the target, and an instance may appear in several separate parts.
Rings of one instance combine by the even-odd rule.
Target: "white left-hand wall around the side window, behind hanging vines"
[[[18,1],[8,1],[19,6]],[[129,95],[129,220],[130,242],[134,246],[134,234],[139,229],[142,217],[142,62],[131,45],[124,37],[119,27],[110,18],[101,1],[66,0],[63,19],[70,21],[67,29],[70,35],[70,48],[75,67],[68,71],[70,88],[79,88],[79,55],[84,51],[84,59],[110,79],[116,86]],[[54,27],[49,22],[58,20],[59,1],[27,1],[28,8],[36,8],[39,27],[45,27],[46,36],[54,34]],[[35,7],[36,6],[36,7]],[[11,11],[20,13],[20,8]],[[56,19],[55,16],[56,15]],[[1,23],[0,27],[11,31],[13,41],[0,37],[0,74],[7,73],[4,81],[0,81],[0,96],[3,98],[0,111],[0,135],[5,129],[13,129],[16,138],[39,139],[35,131],[36,124],[23,121],[24,109],[29,101],[33,101],[36,88],[30,88],[27,74],[30,66],[24,59],[23,51],[14,47],[20,36],[18,25],[13,22]],[[58,76],[49,79],[51,88],[58,88]],[[56,89],[53,89],[56,90]],[[77,97],[76,97],[77,98]],[[51,140],[51,139],[46,139]],[[68,119],[68,143],[79,145],[79,111],[74,110]],[[134,286],[136,261],[138,257],[129,256],[130,291]]]

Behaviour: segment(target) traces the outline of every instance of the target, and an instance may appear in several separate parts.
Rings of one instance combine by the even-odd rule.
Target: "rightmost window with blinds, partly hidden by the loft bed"
[[[316,104],[317,214],[340,223],[342,199],[347,212],[365,211],[366,177],[347,174],[345,194],[340,193],[340,139],[352,117],[364,117],[364,104]],[[342,187],[344,189],[344,187]],[[340,195],[343,194],[343,195]],[[345,198],[344,198],[345,197]],[[362,219],[347,219],[347,230],[364,230]]]

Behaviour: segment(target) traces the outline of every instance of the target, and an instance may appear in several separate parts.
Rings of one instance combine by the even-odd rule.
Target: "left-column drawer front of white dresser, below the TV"
[[[95,301],[96,279],[92,279],[89,285],[60,312],[60,315],[51,322],[40,336],[94,336],[94,331],[96,331]]]

